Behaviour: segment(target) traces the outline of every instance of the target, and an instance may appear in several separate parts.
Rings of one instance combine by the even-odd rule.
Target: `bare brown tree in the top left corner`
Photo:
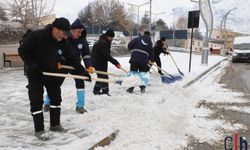
[[[6,0],[10,15],[24,28],[37,27],[41,18],[49,16],[55,0]],[[50,7],[49,7],[50,6]]]

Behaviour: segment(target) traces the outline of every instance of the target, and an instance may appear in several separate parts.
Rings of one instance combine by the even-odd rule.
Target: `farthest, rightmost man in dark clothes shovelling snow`
[[[160,40],[156,41],[155,45],[154,45],[154,60],[157,64],[158,67],[161,68],[161,59],[160,59],[160,54],[163,53],[163,54],[169,54],[166,50],[167,50],[167,47],[166,47],[166,38],[165,37],[161,37]],[[161,69],[158,69],[158,72],[160,75],[164,75],[162,72],[161,72]]]

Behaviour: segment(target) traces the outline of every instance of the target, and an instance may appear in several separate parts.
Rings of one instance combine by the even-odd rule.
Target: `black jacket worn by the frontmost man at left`
[[[73,55],[68,41],[57,42],[53,39],[52,28],[52,25],[47,25],[44,29],[31,32],[18,48],[19,55],[28,66],[28,72],[34,67],[41,71],[59,72],[57,65],[61,57],[77,72],[84,72],[85,69]]]

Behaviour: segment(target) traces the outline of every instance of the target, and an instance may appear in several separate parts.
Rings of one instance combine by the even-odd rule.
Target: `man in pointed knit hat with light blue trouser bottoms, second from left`
[[[94,68],[92,67],[92,61],[90,57],[89,52],[89,45],[86,40],[86,29],[84,28],[83,24],[81,23],[80,19],[76,19],[70,26],[70,31],[72,36],[68,37],[68,41],[72,46],[72,52],[74,56],[76,56],[78,63],[81,63],[81,60],[83,59],[85,67],[87,68],[87,71],[89,73],[94,72]],[[67,62],[65,62],[64,58],[61,60],[61,64],[68,65]],[[76,74],[75,70],[66,71],[70,72],[71,74]],[[62,79],[62,83],[64,81],[64,78]],[[76,86],[76,111],[78,113],[85,113],[87,112],[84,108],[85,106],[85,84],[84,80],[75,79],[75,86]],[[50,99],[48,96],[46,96],[44,100],[44,109],[49,110],[50,106]]]

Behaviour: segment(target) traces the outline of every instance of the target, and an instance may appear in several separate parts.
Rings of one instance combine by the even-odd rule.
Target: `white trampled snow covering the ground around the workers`
[[[220,129],[232,131],[245,128],[241,124],[228,124],[223,120],[212,120],[211,110],[196,108],[200,100],[207,102],[239,102],[241,93],[222,88],[216,82],[223,72],[221,68],[202,82],[188,88],[182,86],[197,75],[224,59],[210,56],[209,64],[201,66],[201,56],[193,55],[192,72],[188,73],[189,55],[172,53],[180,70],[185,74],[182,81],[161,83],[157,74],[151,74],[151,85],[146,93],[139,88],[128,94],[126,86],[110,85],[108,96],[94,96],[93,83],[86,82],[87,114],[75,112],[76,90],[74,80],[66,79],[62,86],[61,123],[68,133],[51,133],[52,139],[41,142],[33,136],[33,122],[29,112],[26,78],[21,69],[0,71],[0,149],[88,149],[103,137],[119,129],[117,138],[98,150],[173,150],[183,149],[189,136],[213,143],[224,138]],[[127,57],[118,58],[129,70]],[[169,56],[162,56],[163,69],[178,74]],[[113,65],[109,71],[123,74]],[[110,79],[113,79],[110,77]],[[45,127],[49,127],[49,115],[45,114]]]

